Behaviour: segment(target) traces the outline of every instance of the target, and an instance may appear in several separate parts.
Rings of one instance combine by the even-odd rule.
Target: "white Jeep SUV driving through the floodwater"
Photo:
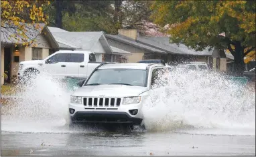
[[[69,104],[70,126],[119,123],[142,126],[141,108],[159,77],[168,84],[168,68],[157,63],[103,63],[76,90]]]

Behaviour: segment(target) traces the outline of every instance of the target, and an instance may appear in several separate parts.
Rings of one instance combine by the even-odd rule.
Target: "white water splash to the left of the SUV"
[[[2,107],[2,130],[52,132],[66,125],[70,92],[63,82],[40,75],[17,88],[22,88],[16,95],[20,99]]]

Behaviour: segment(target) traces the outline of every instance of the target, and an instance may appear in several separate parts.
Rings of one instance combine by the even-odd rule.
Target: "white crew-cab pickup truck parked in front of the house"
[[[32,77],[38,73],[47,73],[52,77],[88,77],[100,65],[94,53],[90,51],[60,50],[43,60],[21,61],[18,77]]]

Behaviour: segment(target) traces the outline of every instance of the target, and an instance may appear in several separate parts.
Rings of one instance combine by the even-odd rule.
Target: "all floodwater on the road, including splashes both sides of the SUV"
[[[172,80],[143,106],[147,132],[109,132],[69,130],[71,92],[39,78],[1,108],[1,156],[255,156],[255,90],[215,74]]]

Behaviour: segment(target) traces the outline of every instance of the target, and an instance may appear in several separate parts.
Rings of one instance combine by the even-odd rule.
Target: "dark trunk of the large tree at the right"
[[[244,49],[241,46],[241,43],[237,43],[235,45],[235,54],[234,54],[234,68],[233,73],[237,76],[242,76],[243,71],[245,71],[245,61],[243,60],[244,57]]]

